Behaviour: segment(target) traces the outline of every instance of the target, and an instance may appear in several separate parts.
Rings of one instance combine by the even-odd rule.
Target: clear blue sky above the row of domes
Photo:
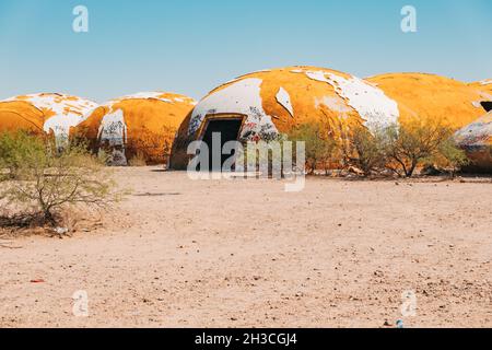
[[[90,32],[72,31],[75,5]],[[417,8],[418,33],[400,10]],[[490,0],[0,0],[0,98],[98,102],[164,90],[199,98],[234,77],[312,65],[492,78]]]

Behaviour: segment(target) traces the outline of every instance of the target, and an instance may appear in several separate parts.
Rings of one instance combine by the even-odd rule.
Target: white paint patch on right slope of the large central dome
[[[398,104],[385,93],[362,79],[343,77],[325,71],[306,71],[313,80],[326,82],[335,88],[337,94],[347,100],[365,120],[366,127],[389,126],[398,121],[400,116]]]

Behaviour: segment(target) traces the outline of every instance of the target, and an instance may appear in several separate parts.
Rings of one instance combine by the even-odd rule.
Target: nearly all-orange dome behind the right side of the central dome
[[[453,79],[424,73],[390,73],[367,81],[398,103],[402,125],[413,118],[429,118],[459,129],[483,115],[483,92]]]

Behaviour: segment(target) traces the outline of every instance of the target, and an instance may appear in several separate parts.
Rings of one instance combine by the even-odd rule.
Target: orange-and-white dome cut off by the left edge
[[[0,132],[26,130],[68,138],[71,127],[82,122],[97,104],[77,96],[42,93],[0,102]]]

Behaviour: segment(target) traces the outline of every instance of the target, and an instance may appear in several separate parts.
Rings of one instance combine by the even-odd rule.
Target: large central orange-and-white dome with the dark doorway
[[[353,75],[315,67],[262,70],[216,88],[197,104],[179,128],[171,166],[187,166],[187,145],[203,138],[212,122],[231,122],[235,139],[248,141],[276,138],[308,120],[339,138],[351,126],[393,124],[398,117],[396,102]]]

